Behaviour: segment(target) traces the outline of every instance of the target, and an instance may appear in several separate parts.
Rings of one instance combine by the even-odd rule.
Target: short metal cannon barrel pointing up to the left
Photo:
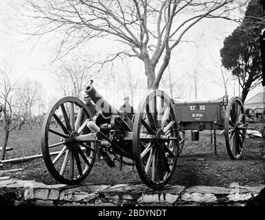
[[[112,107],[98,92],[93,85],[87,86],[85,92],[90,96],[95,103],[97,111],[102,113],[103,118],[111,118],[114,113],[118,113],[115,107]]]

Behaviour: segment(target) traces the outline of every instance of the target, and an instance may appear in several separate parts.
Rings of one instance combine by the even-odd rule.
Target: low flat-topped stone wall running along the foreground
[[[45,185],[0,177],[0,205],[10,206],[245,206],[265,186]]]

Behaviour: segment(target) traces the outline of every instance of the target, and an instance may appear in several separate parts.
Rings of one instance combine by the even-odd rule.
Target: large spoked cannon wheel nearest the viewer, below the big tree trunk
[[[163,91],[150,91],[133,124],[133,159],[150,188],[165,186],[178,159],[178,123],[174,103]]]

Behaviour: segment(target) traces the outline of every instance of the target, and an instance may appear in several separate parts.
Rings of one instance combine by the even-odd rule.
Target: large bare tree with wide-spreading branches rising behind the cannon
[[[172,50],[202,19],[229,19],[238,8],[233,0],[30,0],[32,11],[25,16],[36,22],[27,34],[62,34],[57,58],[93,38],[122,43],[124,50],[110,54],[103,63],[124,56],[144,63],[148,88],[156,89],[168,67]],[[240,2],[244,5],[245,2]]]

